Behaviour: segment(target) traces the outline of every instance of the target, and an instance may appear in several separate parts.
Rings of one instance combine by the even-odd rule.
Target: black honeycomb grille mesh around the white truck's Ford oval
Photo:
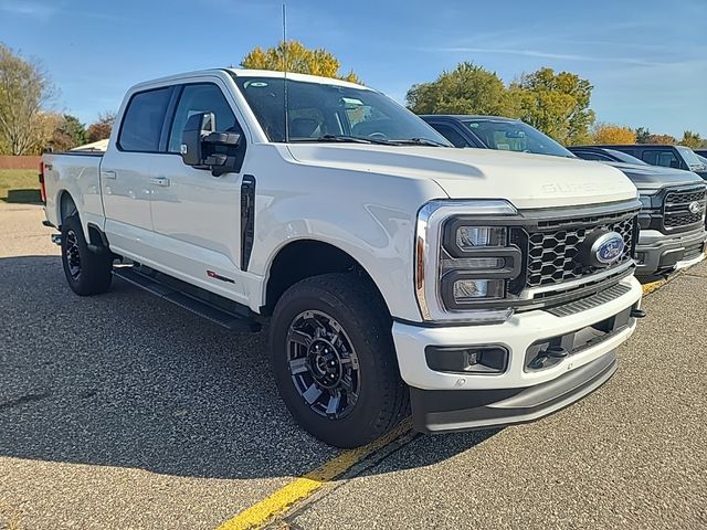
[[[623,237],[623,254],[612,266],[632,259],[635,245],[635,218],[622,221],[609,220],[606,224],[564,227],[550,232],[527,232],[528,261],[527,287],[560,284],[582,278],[600,271],[578,261],[581,243],[595,230],[614,231]]]

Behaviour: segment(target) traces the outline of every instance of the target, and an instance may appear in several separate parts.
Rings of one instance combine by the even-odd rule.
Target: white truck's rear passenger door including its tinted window
[[[120,128],[101,162],[105,231],[110,246],[130,257],[150,253],[150,171],[172,87],[137,92],[123,113]]]

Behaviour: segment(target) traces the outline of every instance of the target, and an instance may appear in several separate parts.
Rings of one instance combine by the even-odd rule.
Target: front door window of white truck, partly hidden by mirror
[[[181,135],[190,116],[198,113],[213,113],[215,117],[215,130],[221,132],[239,132],[243,131],[235,120],[235,115],[231,110],[229,102],[225,100],[221,88],[212,83],[202,83],[196,85],[186,85],[177,110],[175,119],[169,132],[169,152],[179,152],[181,145]]]

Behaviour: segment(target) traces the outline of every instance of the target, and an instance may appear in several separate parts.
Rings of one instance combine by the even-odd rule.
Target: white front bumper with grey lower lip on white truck
[[[642,289],[629,277],[624,294],[590,309],[556,316],[545,310],[514,315],[487,326],[422,327],[395,321],[393,340],[402,379],[411,386],[415,428],[461,431],[536,420],[580,400],[615,371],[613,351],[635,329],[626,315],[640,305]],[[591,333],[593,326],[624,318],[601,338],[582,343],[548,368],[528,368],[528,352],[545,339]],[[599,335],[599,333],[598,333]],[[430,369],[428,346],[499,344],[508,351],[503,373],[441,372]]]

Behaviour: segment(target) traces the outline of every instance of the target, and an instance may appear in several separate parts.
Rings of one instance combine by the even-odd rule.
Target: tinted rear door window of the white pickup
[[[172,88],[135,94],[123,117],[118,147],[124,151],[155,152],[159,150],[159,137],[162,131],[165,114]]]

